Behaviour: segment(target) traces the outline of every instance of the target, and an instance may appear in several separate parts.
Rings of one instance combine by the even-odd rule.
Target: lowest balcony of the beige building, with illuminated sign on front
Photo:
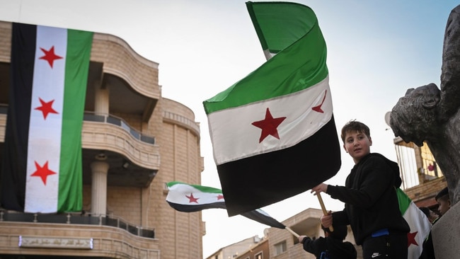
[[[81,214],[1,211],[0,249],[3,255],[159,258],[154,229]]]

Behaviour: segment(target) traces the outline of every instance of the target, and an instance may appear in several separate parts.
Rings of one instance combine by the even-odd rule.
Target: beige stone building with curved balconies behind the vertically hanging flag
[[[11,23],[0,22],[0,152]],[[202,258],[200,212],[176,212],[165,183],[200,184],[200,125],[161,97],[156,62],[94,33],[82,130],[84,212],[0,209],[0,258]],[[0,153],[0,163],[1,156]]]

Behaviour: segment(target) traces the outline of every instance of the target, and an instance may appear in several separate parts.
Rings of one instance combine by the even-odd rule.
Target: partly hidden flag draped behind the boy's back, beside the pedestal
[[[427,216],[410,200],[400,188],[398,194],[399,209],[410,226],[408,233],[408,259],[418,259],[422,254],[422,243],[430,234],[431,223]]]

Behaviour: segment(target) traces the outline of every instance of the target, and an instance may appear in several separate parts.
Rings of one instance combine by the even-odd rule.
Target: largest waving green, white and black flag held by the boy
[[[203,102],[229,216],[309,190],[341,163],[326,42],[314,11],[246,4],[264,50],[277,54]]]

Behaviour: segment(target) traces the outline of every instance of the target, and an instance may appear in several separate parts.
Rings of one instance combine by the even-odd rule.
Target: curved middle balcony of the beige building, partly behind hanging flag
[[[0,154],[3,150],[7,108],[0,106]],[[81,132],[83,180],[91,184],[91,163],[104,159],[110,166],[108,185],[145,188],[160,168],[154,137],[137,132],[113,115],[86,113]]]

